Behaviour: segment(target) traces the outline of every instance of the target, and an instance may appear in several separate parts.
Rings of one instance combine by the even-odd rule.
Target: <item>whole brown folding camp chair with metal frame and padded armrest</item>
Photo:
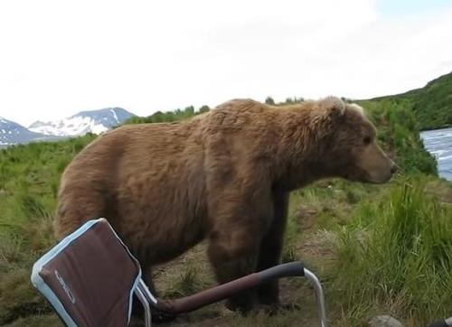
[[[181,299],[158,299],[141,279],[137,259],[102,218],[89,220],[36,261],[32,283],[68,326],[127,326],[133,294],[145,308],[146,326],[151,326],[151,308],[187,313],[285,276],[306,276],[313,283],[321,325],[327,326],[322,285],[301,262],[274,266]]]

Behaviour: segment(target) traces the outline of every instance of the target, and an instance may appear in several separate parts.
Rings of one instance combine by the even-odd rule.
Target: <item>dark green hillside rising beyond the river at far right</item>
[[[424,88],[373,100],[386,99],[412,108],[422,130],[452,126],[452,72],[429,81]]]

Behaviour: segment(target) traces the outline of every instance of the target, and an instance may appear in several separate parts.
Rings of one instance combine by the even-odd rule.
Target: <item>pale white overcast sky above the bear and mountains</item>
[[[450,0],[2,0],[0,117],[371,98],[452,71]]]

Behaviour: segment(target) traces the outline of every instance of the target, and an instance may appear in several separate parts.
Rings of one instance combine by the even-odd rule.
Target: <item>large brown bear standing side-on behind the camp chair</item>
[[[63,238],[105,217],[144,268],[208,238],[219,283],[279,263],[289,192],[328,177],[388,182],[363,109],[340,98],[287,106],[235,99],[175,123],[121,126],[78,154],[61,179],[55,222]],[[278,304],[278,281],[228,307]]]

